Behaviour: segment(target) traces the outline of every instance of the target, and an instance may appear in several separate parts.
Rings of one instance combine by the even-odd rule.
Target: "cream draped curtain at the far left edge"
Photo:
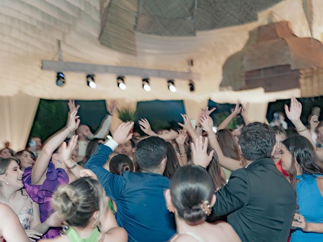
[[[0,96],[0,142],[11,143],[19,151],[25,148],[37,111],[39,98],[23,93],[12,97]]]

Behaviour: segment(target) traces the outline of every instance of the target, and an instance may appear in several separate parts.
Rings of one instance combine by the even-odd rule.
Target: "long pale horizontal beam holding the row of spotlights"
[[[76,62],[41,61],[43,71],[54,72],[81,72],[81,73],[114,73],[117,76],[158,77],[165,79],[200,80],[199,73],[176,72],[134,67],[117,67],[93,65]]]

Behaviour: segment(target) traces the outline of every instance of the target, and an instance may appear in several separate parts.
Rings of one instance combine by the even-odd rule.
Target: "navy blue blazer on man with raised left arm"
[[[131,242],[168,241],[176,232],[174,214],[167,210],[164,199],[170,180],[156,173],[112,174],[102,167],[112,152],[99,145],[85,168],[97,175],[107,196],[116,202],[119,226],[127,230]]]

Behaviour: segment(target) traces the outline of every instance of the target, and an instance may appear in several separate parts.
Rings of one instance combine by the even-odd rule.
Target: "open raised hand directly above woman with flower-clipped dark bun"
[[[212,156],[214,154],[214,150],[210,152],[209,155],[207,155],[207,141],[208,139],[205,138],[203,142],[203,137],[200,136],[199,138],[196,138],[195,145],[194,143],[191,143],[191,150],[192,150],[192,156],[193,156],[193,163],[195,165],[200,165],[204,168],[208,166],[210,161],[212,160]]]

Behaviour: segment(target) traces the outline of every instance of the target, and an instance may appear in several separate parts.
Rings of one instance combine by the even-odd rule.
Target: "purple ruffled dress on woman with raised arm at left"
[[[55,168],[55,165],[50,161],[46,173],[46,179],[42,185],[31,184],[31,169],[28,167],[23,174],[23,183],[29,197],[39,204],[40,221],[44,222],[53,212],[50,201],[53,193],[62,184],[69,184],[69,176],[62,168]],[[43,235],[43,238],[54,238],[60,235],[61,227],[50,228]]]

